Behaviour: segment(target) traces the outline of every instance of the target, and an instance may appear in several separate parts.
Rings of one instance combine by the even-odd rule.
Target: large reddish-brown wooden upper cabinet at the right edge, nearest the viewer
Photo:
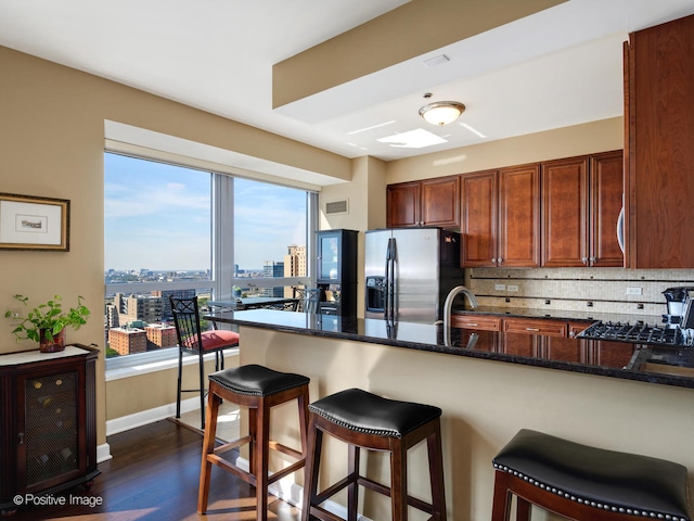
[[[625,45],[629,268],[694,268],[694,15]]]

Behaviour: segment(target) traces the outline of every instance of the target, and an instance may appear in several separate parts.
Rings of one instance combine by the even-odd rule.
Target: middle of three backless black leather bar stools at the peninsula
[[[434,521],[445,521],[440,416],[438,407],[386,399],[360,389],[342,391],[309,405],[309,448],[301,521],[339,519],[321,504],[345,487],[347,520],[356,521],[360,485],[390,496],[394,521],[408,519],[408,505],[429,513]],[[349,463],[345,479],[318,493],[323,433],[348,444]],[[408,495],[408,449],[423,440],[426,440],[428,449],[430,504]],[[390,453],[389,488],[359,474],[360,448]]]

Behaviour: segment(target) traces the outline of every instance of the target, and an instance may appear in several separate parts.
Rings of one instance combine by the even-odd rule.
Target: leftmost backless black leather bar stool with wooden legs
[[[268,519],[268,486],[304,467],[306,462],[309,379],[301,374],[279,372],[264,366],[248,365],[224,369],[209,376],[207,429],[203,441],[203,462],[200,472],[197,511],[205,513],[209,496],[213,463],[256,487],[258,521]],[[248,435],[215,447],[219,404],[227,399],[248,408]],[[298,403],[301,450],[295,450],[270,440],[270,409],[292,399]],[[249,471],[219,456],[221,453],[245,444],[249,445]],[[288,467],[269,474],[270,448],[297,459]]]

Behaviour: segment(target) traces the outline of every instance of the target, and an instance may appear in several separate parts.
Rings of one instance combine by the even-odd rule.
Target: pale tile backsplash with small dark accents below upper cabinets
[[[667,313],[663,291],[694,287],[694,269],[468,268],[480,306],[629,315]]]

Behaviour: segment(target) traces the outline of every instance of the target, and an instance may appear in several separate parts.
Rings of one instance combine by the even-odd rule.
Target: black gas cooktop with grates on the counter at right
[[[580,339],[612,340],[634,344],[691,345],[691,339],[689,335],[683,334],[680,328],[668,327],[667,325],[650,326],[641,320],[633,325],[629,322],[595,322],[577,336]]]

